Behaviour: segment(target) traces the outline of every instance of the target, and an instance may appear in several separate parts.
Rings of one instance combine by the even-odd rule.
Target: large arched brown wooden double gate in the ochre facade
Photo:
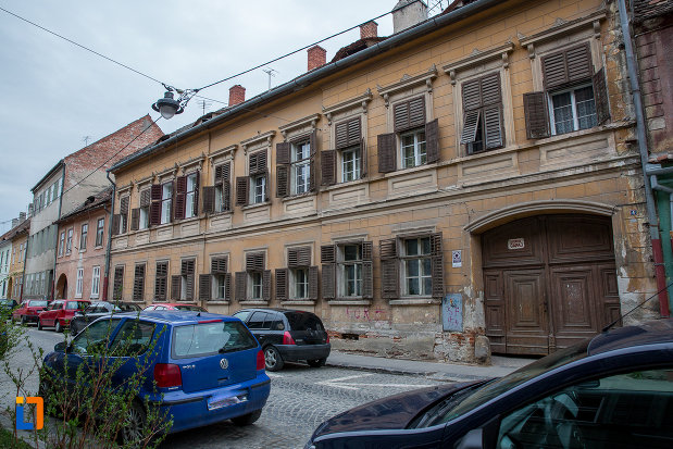
[[[547,354],[620,316],[609,217],[539,215],[482,236],[494,353]]]

